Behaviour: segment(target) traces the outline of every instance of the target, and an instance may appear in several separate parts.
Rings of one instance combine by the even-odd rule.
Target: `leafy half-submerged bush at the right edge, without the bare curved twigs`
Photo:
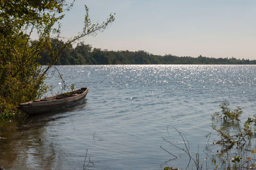
[[[220,106],[220,116],[212,116],[216,121],[215,124],[212,123],[212,129],[220,137],[214,144],[220,146],[219,158],[223,162],[222,166],[227,169],[255,168],[256,157],[252,146],[252,139],[256,137],[255,115],[241,123],[239,117],[243,111],[240,107],[232,111],[228,102],[223,102]],[[216,124],[220,124],[220,127],[217,128]]]

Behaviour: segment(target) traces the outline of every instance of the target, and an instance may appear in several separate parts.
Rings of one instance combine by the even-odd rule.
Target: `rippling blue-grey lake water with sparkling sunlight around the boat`
[[[211,114],[221,102],[255,112],[254,65],[58,66],[66,84],[90,89],[83,104],[29,118],[0,134],[0,166],[6,169],[163,169],[186,167],[188,157],[163,141],[202,149],[211,132]],[[58,75],[47,84],[61,91]],[[160,148],[171,151],[173,158]],[[182,145],[180,145],[182,146]],[[185,162],[184,162],[185,161]]]

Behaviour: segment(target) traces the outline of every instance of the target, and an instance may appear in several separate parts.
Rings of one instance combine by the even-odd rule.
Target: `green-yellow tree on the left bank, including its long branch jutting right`
[[[110,14],[106,22],[93,24],[85,6],[83,31],[62,42],[59,21],[72,5],[59,0],[0,0],[0,118],[13,117],[19,103],[42,97],[47,72],[72,43],[95,35],[115,20]],[[37,33],[37,40],[31,40],[32,33]],[[46,66],[39,63],[43,52]]]

